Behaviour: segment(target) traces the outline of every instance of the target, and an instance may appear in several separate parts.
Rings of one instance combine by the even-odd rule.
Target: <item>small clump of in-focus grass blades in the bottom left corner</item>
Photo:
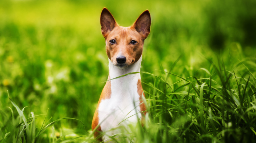
[[[41,128],[39,129],[38,126],[36,126],[35,122],[35,115],[33,112],[31,112],[31,117],[26,118],[24,115],[24,110],[26,107],[24,107],[22,110],[17,106],[17,104],[10,98],[9,93],[8,93],[9,100],[11,104],[16,108],[16,111],[18,112],[18,117],[15,119],[13,110],[8,107],[11,110],[11,117],[10,120],[7,120],[4,123],[4,126],[1,127],[1,133],[6,133],[3,138],[0,139],[0,142],[26,142],[26,143],[36,143],[36,142],[48,142],[45,140],[44,137],[42,137],[42,134],[49,128],[53,127],[53,134],[52,134],[52,142],[54,143],[56,138],[59,138],[59,135],[54,134],[54,123],[63,120],[63,119],[73,119],[73,120],[78,120],[74,118],[61,118],[57,119],[53,122],[50,122],[52,118],[50,118],[46,123],[46,117],[47,114],[45,115],[43,124]],[[41,115],[42,116],[42,115]],[[37,116],[40,117],[40,116]],[[80,121],[80,120],[78,120]],[[49,123],[50,122],[50,123]],[[47,135],[47,134],[46,134]],[[78,137],[76,137],[78,138]],[[62,139],[64,141],[62,142],[70,142],[72,140],[68,139]],[[60,142],[60,140],[57,139],[57,142]]]

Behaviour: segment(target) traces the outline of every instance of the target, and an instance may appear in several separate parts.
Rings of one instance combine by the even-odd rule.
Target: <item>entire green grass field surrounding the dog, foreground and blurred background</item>
[[[255,0],[1,0],[0,142],[94,141],[103,7],[121,26],[151,13],[137,142],[256,142]]]

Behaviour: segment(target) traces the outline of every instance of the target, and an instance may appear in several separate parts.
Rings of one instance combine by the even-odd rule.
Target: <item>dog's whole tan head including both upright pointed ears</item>
[[[126,68],[142,55],[144,40],[150,32],[150,14],[144,11],[131,27],[118,26],[107,8],[100,15],[101,32],[106,40],[106,53],[118,68]]]

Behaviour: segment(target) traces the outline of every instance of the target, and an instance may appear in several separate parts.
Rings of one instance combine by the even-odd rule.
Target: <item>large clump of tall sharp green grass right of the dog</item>
[[[221,58],[218,61],[216,65],[208,60],[209,69],[198,69],[190,77],[162,71],[161,80],[147,84],[154,122],[144,128],[151,137],[147,140],[255,142],[255,59],[240,61],[231,69]],[[169,76],[176,80],[166,81]]]

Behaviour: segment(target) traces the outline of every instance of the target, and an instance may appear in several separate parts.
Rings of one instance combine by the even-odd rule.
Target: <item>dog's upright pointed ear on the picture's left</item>
[[[103,8],[100,14],[101,33],[106,38],[108,33],[118,26],[114,17],[107,8]]]

